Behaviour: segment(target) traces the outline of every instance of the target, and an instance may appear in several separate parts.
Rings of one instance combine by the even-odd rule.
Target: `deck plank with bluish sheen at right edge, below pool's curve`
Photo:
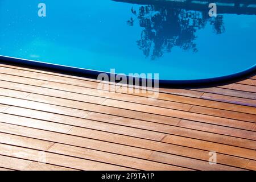
[[[232,104],[251,106],[254,108],[256,107],[256,100],[250,100],[247,98],[222,96],[222,95],[212,94],[212,93],[204,93],[203,96],[201,96],[201,98],[204,98],[207,100],[213,100],[213,101],[228,102]],[[255,114],[255,113],[252,113],[252,114]]]

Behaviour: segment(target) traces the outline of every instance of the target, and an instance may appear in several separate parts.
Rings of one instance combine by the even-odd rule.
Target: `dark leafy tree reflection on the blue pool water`
[[[132,8],[131,13],[135,18],[128,20],[127,24],[134,26],[134,21],[139,21],[143,30],[137,44],[143,54],[152,60],[162,57],[164,52],[171,52],[175,46],[184,51],[197,52],[196,31],[204,28],[208,22],[216,34],[225,31],[223,16],[210,17],[208,12],[147,5],[139,7],[138,12]]]

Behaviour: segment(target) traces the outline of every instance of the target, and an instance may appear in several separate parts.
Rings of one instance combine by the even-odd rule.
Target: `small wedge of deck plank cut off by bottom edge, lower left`
[[[32,162],[24,171],[78,171],[77,169],[71,169],[67,167],[54,166],[46,163]]]

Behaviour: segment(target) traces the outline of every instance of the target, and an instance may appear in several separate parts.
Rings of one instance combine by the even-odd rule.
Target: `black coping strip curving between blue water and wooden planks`
[[[106,73],[106,75],[109,76],[117,76],[118,74],[113,74],[109,72],[101,72],[101,71],[94,71],[90,69],[82,69],[82,68],[75,68],[75,67],[67,67],[64,65],[57,65],[57,64],[51,64],[51,63],[43,63],[39,61],[32,61],[32,60],[26,60],[26,59],[18,59],[15,57],[7,57],[7,56],[1,56],[0,55],[0,61],[4,64],[13,64],[13,65],[20,65],[20,66],[30,66],[36,69],[47,69],[47,71],[53,71],[58,73],[63,73],[65,75],[73,75],[73,76],[80,76],[80,77],[87,77],[87,78],[98,78],[98,75],[101,73]],[[233,75],[228,76],[221,76],[221,77],[215,77],[215,78],[206,78],[206,79],[199,79],[199,80],[159,80],[159,87],[160,88],[193,88],[193,87],[209,87],[209,86],[215,86],[215,85],[226,85],[229,82],[234,82],[235,80],[244,80],[247,77],[250,77],[251,75],[255,75],[256,73],[256,64],[246,69],[245,71],[234,73]],[[128,79],[139,79],[140,85],[142,81],[144,81],[144,78],[138,78],[138,77],[130,77],[126,76]],[[104,80],[104,81],[111,81],[111,80]],[[147,79],[147,81],[151,81],[152,85],[154,86],[155,80]]]

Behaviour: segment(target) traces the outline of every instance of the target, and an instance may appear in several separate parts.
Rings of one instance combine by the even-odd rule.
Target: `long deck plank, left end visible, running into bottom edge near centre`
[[[127,166],[130,168],[152,171],[152,170],[188,170],[183,167],[169,166],[163,163],[152,162],[144,159],[131,158],[117,154],[108,154],[106,152],[89,150],[81,147],[67,146],[63,144],[54,144],[48,151],[56,152],[69,156],[76,156],[83,159],[98,160],[110,164]]]

